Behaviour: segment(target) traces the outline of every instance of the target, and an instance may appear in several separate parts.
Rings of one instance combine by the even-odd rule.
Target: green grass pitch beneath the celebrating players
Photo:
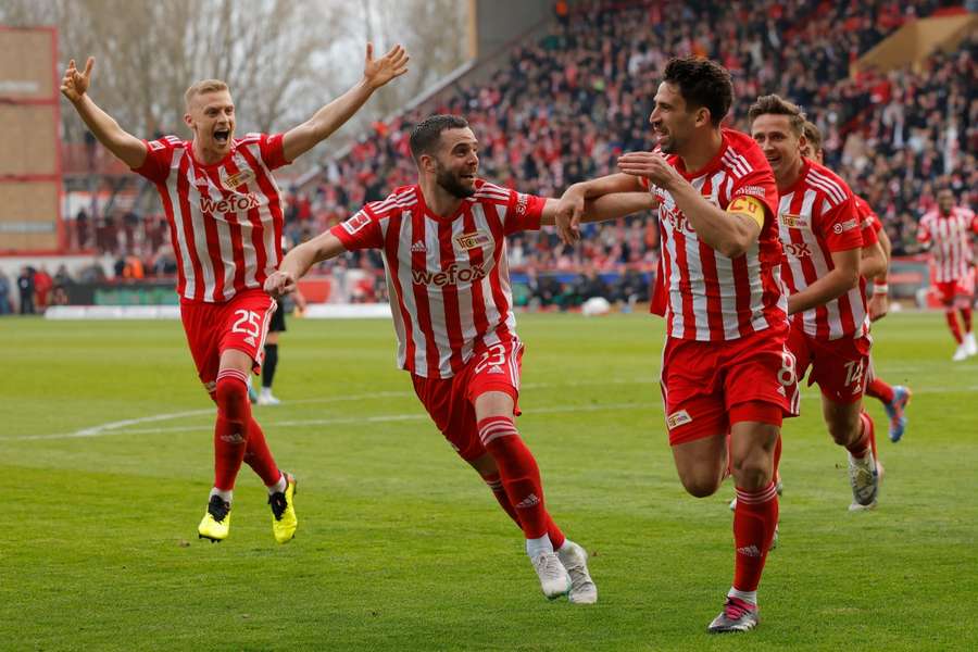
[[[844,454],[808,390],[785,429],[781,537],[761,627],[710,637],[731,578],[732,492],[684,493],[655,379],[662,323],[525,315],[521,431],[600,603],[548,603],[519,532],[394,368],[390,324],[292,319],[256,409],[300,478],[272,539],[264,490],[231,537],[196,538],[213,409],[177,322],[0,321],[0,649],[978,649],[978,359],[940,314],[876,328],[877,368],[914,388],[886,439],[879,509],[850,514]],[[184,414],[147,419],[154,415]],[[78,437],[87,431],[89,437]]]

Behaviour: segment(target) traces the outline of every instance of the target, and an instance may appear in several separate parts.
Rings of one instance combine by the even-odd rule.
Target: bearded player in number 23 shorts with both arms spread
[[[523,342],[516,336],[505,236],[553,224],[557,200],[478,178],[478,141],[468,123],[435,115],[411,133],[419,179],[292,249],[265,281],[273,297],[292,291],[316,262],[379,249],[398,336],[398,366],[459,455],[475,468],[523,529],[543,594],[592,603],[598,589],[587,553],[550,517],[537,462],[523,442]],[[607,198],[593,217],[652,204],[648,195]]]

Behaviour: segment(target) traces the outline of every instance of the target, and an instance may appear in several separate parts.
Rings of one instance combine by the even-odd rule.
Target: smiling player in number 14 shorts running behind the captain
[[[822,390],[829,435],[849,451],[851,510],[876,505],[879,476],[873,419],[862,410],[869,358],[863,221],[845,181],[801,155],[804,113],[776,95],[750,108],[751,135],[774,170],[780,195],[778,230],[785,249],[791,335],[799,377]],[[872,228],[867,229],[872,234]],[[874,242],[875,244],[875,242]]]

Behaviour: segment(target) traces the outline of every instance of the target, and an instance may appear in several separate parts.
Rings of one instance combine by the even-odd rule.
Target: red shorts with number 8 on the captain
[[[726,342],[667,338],[662,398],[669,446],[726,434],[744,421],[781,425],[798,415],[787,326]]]

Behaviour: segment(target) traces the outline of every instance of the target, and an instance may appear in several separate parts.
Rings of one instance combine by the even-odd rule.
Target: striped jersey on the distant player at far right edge
[[[920,217],[917,239],[931,246],[935,283],[949,283],[970,274],[973,234],[978,234],[978,217],[969,209],[954,206],[948,215],[935,209]]]

